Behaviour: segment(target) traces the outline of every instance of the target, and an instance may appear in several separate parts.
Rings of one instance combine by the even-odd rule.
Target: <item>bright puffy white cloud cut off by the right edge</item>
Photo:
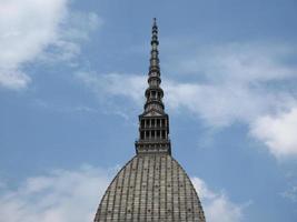
[[[251,125],[251,134],[264,141],[277,158],[297,155],[297,108],[278,115],[260,117]]]

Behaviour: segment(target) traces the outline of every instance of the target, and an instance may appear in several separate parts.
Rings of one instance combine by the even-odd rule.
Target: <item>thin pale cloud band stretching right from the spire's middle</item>
[[[186,109],[212,127],[248,122],[265,112],[275,99],[274,95],[257,97],[260,92],[250,92],[245,85],[231,83],[215,85],[170,81],[165,89],[165,100],[171,110]]]

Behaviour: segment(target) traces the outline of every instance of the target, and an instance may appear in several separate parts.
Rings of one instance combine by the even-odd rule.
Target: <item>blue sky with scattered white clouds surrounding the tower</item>
[[[0,222],[87,222],[135,155],[152,18],[172,155],[208,222],[297,221],[295,0],[0,0]]]

